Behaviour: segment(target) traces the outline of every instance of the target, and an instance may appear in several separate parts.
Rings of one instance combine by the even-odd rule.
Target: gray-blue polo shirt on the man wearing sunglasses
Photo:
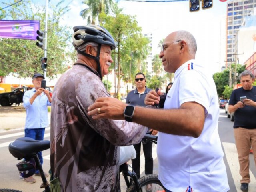
[[[146,97],[146,94],[148,92],[150,92],[152,89],[149,89],[146,87],[144,93],[140,94],[136,89],[130,91],[128,94],[127,94],[127,97],[126,97],[126,103],[128,104],[131,104],[131,105],[139,105],[139,106],[146,106],[144,104],[144,100],[145,100],[145,97]]]

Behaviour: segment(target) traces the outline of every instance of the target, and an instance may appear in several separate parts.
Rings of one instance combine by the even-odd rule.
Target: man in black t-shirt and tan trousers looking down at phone
[[[229,112],[235,112],[234,136],[242,179],[241,190],[248,192],[250,183],[249,154],[250,148],[256,152],[256,87],[253,86],[254,75],[245,70],[239,75],[242,87],[233,90],[228,103]],[[256,163],[256,154],[254,154]]]

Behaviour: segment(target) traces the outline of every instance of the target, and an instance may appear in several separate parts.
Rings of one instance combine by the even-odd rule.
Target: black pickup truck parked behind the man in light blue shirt
[[[23,102],[24,92],[32,89],[31,87],[20,87],[16,88],[12,92],[0,93],[0,105],[1,106],[11,106],[12,104],[20,104]],[[46,87],[50,92],[50,96],[52,96],[52,89],[50,87]]]

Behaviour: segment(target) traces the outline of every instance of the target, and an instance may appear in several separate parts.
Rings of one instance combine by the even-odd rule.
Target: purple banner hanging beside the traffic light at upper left
[[[40,22],[33,20],[0,20],[0,38],[36,40]]]

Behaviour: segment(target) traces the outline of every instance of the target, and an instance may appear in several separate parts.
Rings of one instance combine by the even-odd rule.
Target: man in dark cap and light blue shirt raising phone
[[[49,126],[47,106],[51,106],[52,98],[49,90],[45,89],[46,81],[42,74],[36,73],[32,79],[34,88],[26,91],[23,96],[23,106],[26,109],[25,137],[44,140],[44,130]],[[42,152],[38,153],[38,158],[43,164]],[[49,176],[47,173],[44,174],[46,177]],[[35,176],[40,176],[38,170]],[[23,178],[22,175],[20,178]],[[32,176],[23,178],[23,180],[28,183],[36,182]]]

